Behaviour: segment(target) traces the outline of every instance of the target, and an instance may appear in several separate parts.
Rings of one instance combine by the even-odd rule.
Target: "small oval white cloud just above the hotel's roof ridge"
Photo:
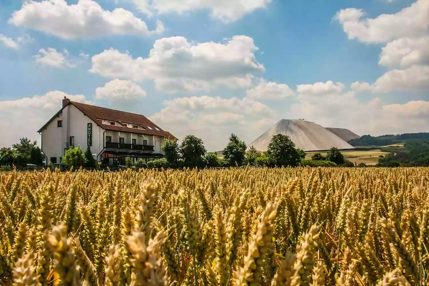
[[[104,87],[97,87],[95,99],[108,99],[115,104],[133,102],[146,96],[146,91],[133,81],[114,79],[106,82]]]

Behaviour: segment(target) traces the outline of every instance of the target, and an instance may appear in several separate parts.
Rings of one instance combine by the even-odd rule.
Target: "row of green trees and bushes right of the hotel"
[[[266,152],[257,151],[254,146],[247,148],[244,141],[231,134],[222,150],[222,158],[215,152],[207,153],[204,142],[194,135],[187,135],[180,145],[174,139],[165,138],[162,150],[164,158],[148,162],[149,168],[353,166],[335,147],[329,150],[326,157],[318,154],[320,156],[312,160],[305,159],[306,153],[296,148],[289,136],[282,134],[271,138]],[[136,163],[136,166],[139,164]]]

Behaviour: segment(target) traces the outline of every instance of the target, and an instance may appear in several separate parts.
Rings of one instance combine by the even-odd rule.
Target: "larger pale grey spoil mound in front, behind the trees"
[[[260,135],[249,146],[253,145],[258,151],[267,151],[272,136],[283,134],[289,136],[296,148],[304,151],[327,150],[332,147],[351,149],[353,146],[323,126],[301,119],[282,119],[268,131]]]

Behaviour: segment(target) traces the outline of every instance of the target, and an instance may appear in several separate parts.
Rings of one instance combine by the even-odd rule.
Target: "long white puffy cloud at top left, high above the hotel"
[[[154,31],[144,21],[122,8],[107,11],[93,0],[67,5],[65,0],[26,1],[13,12],[9,23],[42,31],[63,39],[93,38],[103,35],[141,35],[162,33],[157,21]]]

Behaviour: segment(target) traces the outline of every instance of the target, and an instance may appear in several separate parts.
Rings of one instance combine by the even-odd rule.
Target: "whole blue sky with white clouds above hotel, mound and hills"
[[[429,131],[429,1],[78,2],[0,1],[0,146],[39,139],[64,94],[210,151],[282,118]]]

